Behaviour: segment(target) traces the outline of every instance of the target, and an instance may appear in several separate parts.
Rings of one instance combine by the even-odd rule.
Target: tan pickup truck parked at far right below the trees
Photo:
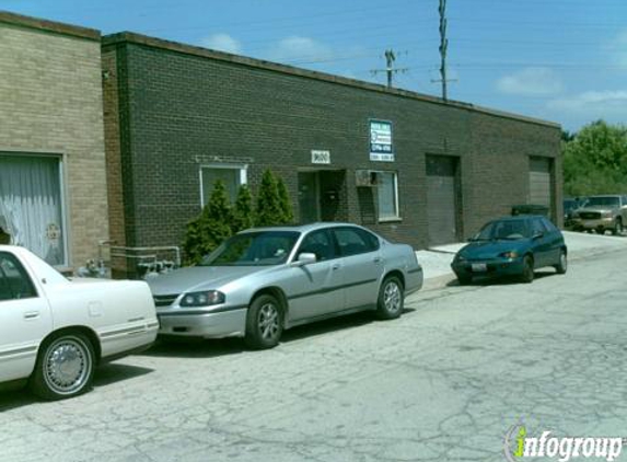
[[[574,231],[606,230],[620,234],[627,223],[627,195],[590,196],[584,207],[572,212]]]

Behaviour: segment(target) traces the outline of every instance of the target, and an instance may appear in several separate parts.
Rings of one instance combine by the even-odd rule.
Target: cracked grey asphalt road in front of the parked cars
[[[74,400],[1,394],[0,460],[498,461],[520,421],[627,437],[626,262],[419,292],[400,320],[304,326],[270,351],[156,345]]]

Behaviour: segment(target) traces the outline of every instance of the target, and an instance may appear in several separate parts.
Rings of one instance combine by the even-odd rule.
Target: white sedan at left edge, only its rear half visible
[[[158,330],[146,282],[69,280],[0,245],[0,384],[27,380],[39,397],[74,396],[100,362],[148,348]]]

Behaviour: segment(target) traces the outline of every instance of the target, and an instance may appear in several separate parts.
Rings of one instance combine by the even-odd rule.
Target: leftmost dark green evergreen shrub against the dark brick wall
[[[198,264],[233,232],[233,211],[221,180],[213,186],[209,201],[198,217],[187,223],[183,250],[186,264]]]

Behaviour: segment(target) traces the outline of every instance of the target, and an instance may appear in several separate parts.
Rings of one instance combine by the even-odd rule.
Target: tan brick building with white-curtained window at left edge
[[[0,227],[58,267],[108,239],[97,31],[0,12]]]

